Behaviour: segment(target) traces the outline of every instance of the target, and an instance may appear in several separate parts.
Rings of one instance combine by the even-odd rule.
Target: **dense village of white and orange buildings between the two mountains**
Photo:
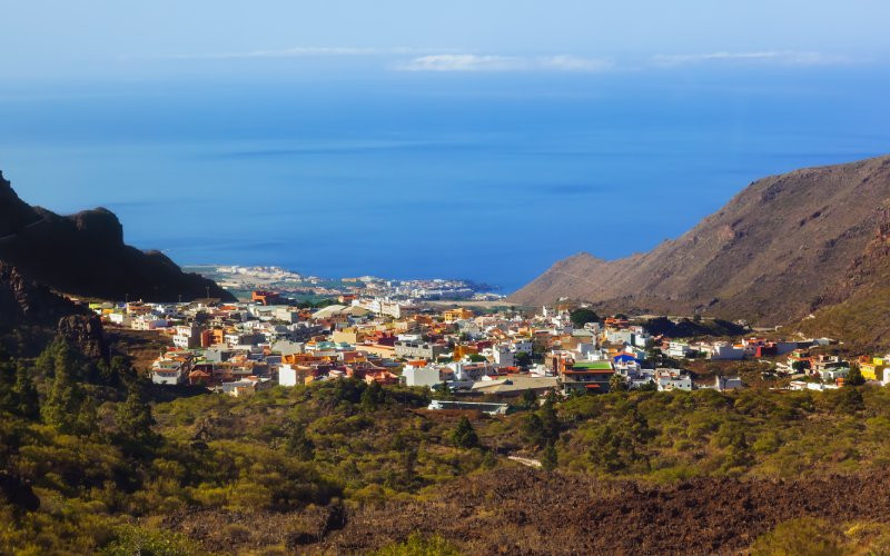
[[[613,390],[716,390],[745,387],[738,374],[698,376],[694,361],[761,361],[762,378],[783,389],[833,389],[852,368],[890,381],[888,357],[844,360],[829,339],[689,340],[653,335],[645,322],[604,319],[577,305],[479,314],[411,300],[340,295],[300,308],[277,292],[249,302],[93,304],[110,327],[154,330],[169,347],[151,365],[160,386],[199,386],[249,396],[276,385],[354,378],[428,387],[432,409],[505,413],[511,403]],[[324,305],[324,304],[323,304]],[[732,369],[732,367],[729,367]],[[532,398],[533,397],[533,398]]]

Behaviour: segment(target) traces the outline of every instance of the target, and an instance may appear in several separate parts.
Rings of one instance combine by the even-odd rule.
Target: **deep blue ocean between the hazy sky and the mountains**
[[[177,262],[468,278],[674,238],[752,180],[890,152],[890,77],[663,75],[0,85],[0,169]]]

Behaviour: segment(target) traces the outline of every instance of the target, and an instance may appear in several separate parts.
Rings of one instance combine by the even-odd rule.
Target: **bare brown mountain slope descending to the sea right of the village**
[[[511,300],[784,322],[841,280],[888,198],[890,157],[764,178],[676,240],[614,261],[570,257]]]

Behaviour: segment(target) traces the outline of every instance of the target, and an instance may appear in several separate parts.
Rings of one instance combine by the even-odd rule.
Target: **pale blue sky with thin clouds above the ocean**
[[[882,0],[0,2],[7,85],[882,64]]]

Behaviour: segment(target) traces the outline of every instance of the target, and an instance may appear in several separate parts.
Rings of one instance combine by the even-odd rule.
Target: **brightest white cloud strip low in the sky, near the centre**
[[[395,63],[397,71],[602,71],[611,60],[573,56],[431,54]]]

